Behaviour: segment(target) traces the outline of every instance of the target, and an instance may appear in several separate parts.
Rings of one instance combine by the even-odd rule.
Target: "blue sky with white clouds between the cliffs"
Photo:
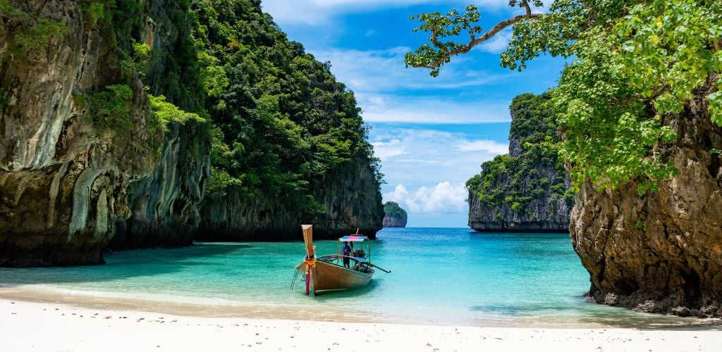
[[[419,22],[409,17],[468,4],[479,6],[484,29],[521,13],[508,0],[262,2],[290,40],[331,61],[336,79],[355,93],[381,159],[384,201],[406,209],[407,226],[466,226],[464,183],[482,162],[507,153],[512,98],[553,87],[562,69],[562,59],[550,57],[536,58],[522,72],[501,68],[508,30],[453,58],[436,78],[404,68],[404,54],[427,38],[412,31]]]

